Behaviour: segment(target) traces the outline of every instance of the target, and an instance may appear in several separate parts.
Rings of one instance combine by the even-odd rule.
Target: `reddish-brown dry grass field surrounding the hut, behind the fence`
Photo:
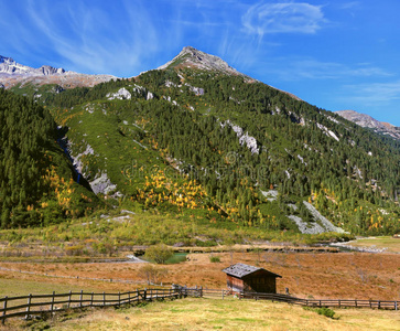
[[[343,299],[400,299],[400,255],[367,253],[218,253],[221,263],[210,263],[209,254],[191,254],[188,261],[164,266],[169,274],[164,282],[207,288],[225,288],[226,276],[221,269],[231,263],[259,265],[281,275],[278,291],[289,288],[292,295],[314,298]],[[37,271],[48,275],[79,276],[141,280],[138,270],[141,264],[29,264],[1,263],[1,267]],[[50,278],[20,273],[0,271],[0,278],[13,278],[55,284],[69,284],[98,288],[99,290],[131,290],[140,285],[101,282],[84,279]],[[166,281],[167,280],[167,281]],[[25,295],[25,293],[22,293]]]

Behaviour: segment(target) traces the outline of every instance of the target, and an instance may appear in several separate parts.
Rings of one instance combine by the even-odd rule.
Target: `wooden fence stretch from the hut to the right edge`
[[[240,299],[271,300],[306,307],[338,307],[338,308],[377,308],[399,309],[398,301],[386,300],[358,300],[358,299],[300,299],[292,296],[279,293],[245,292],[239,295]]]

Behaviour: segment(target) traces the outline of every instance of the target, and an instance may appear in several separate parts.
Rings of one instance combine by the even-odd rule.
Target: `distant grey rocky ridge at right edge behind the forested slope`
[[[355,110],[338,110],[335,113],[363,128],[370,128],[374,129],[377,134],[400,139],[400,128],[389,122],[379,121],[369,115],[360,114]]]

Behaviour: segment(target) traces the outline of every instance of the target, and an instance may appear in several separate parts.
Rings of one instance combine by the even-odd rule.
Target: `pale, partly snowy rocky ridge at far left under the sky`
[[[35,86],[56,84],[63,88],[91,87],[110,79],[116,79],[116,77],[111,75],[85,75],[50,65],[33,68],[19,64],[11,57],[0,55],[0,87],[11,88],[17,85],[24,86],[29,84]]]

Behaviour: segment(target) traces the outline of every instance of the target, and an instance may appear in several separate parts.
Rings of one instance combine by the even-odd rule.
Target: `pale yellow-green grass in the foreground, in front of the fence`
[[[13,321],[8,330],[399,330],[397,311],[336,309],[333,319],[302,307],[235,298],[186,298]],[[11,328],[11,329],[10,329]],[[14,329],[12,329],[14,328]],[[36,328],[36,329],[35,329]],[[7,330],[7,329],[4,329]]]

